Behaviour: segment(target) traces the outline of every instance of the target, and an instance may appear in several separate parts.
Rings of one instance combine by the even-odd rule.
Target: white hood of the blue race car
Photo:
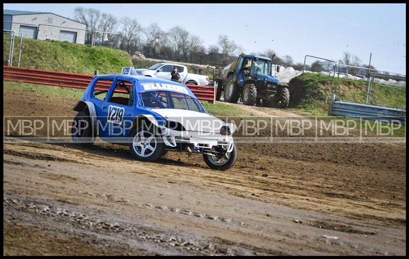
[[[186,130],[198,132],[220,133],[222,126],[229,126],[234,132],[236,126],[228,125],[215,116],[207,113],[181,109],[155,109],[153,112],[161,115],[167,121],[175,121],[183,125]]]

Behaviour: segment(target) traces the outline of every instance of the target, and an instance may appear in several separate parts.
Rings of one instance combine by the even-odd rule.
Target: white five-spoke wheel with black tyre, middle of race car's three
[[[138,160],[153,161],[165,153],[165,144],[161,141],[161,137],[155,135],[153,126],[150,129],[140,127],[134,130],[131,139],[129,149],[133,157]]]

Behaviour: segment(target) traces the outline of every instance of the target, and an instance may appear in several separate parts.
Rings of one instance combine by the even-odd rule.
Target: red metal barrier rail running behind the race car
[[[3,80],[42,84],[51,86],[85,89],[93,75],[84,75],[54,70],[34,69],[16,66],[3,66]],[[97,89],[109,89],[109,83],[97,83]],[[186,85],[199,100],[214,101],[214,87],[204,85]],[[121,92],[125,90],[121,90]]]

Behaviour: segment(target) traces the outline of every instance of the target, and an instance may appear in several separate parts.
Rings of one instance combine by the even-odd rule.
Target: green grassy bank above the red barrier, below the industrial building
[[[3,36],[3,60],[6,60],[9,58],[10,36],[6,34]],[[18,62],[19,44],[20,38],[15,37],[14,66],[17,66]],[[120,73],[123,66],[132,66],[132,61],[128,53],[118,49],[62,41],[23,39],[20,66],[79,74],[94,74],[94,70],[98,70],[99,74],[113,74]]]

